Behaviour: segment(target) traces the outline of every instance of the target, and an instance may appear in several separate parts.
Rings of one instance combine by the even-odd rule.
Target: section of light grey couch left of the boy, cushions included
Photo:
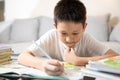
[[[33,40],[54,28],[52,25],[53,19],[45,16],[0,22],[0,45],[11,46],[15,53],[21,53]]]

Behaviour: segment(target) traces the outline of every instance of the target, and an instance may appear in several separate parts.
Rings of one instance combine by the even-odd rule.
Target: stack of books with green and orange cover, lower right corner
[[[96,80],[97,78],[100,80],[120,80],[120,56],[89,61],[81,72],[83,76],[96,77]]]

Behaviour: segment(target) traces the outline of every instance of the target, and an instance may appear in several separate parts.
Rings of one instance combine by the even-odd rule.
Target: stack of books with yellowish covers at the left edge
[[[0,46],[0,64],[10,62],[13,50],[9,46]]]

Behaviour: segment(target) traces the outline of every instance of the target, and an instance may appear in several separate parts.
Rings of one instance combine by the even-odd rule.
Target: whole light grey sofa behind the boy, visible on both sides
[[[86,31],[120,53],[120,22],[112,29],[109,21],[109,14],[87,16]],[[53,18],[46,16],[0,22],[0,45],[10,46],[15,54],[19,54],[30,46],[33,40],[54,28],[53,22]]]

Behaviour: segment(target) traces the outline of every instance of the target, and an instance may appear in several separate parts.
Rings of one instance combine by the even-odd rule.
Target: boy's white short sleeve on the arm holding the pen
[[[54,30],[54,29],[53,29]],[[50,45],[53,44],[53,30],[48,31],[45,33],[43,36],[41,36],[36,43],[38,44],[39,47],[41,47],[46,53],[50,53]],[[53,45],[54,46],[54,45]],[[39,48],[35,45],[32,44],[28,49],[35,55],[35,56],[44,56],[44,54],[40,54],[41,51]]]

